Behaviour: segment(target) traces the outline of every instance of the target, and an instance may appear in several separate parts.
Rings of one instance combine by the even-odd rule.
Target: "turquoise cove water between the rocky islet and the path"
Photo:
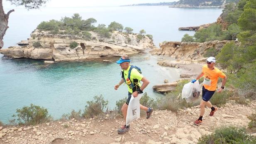
[[[151,82],[144,92],[150,97],[161,97],[153,92],[154,85],[163,84],[164,79],[178,80],[175,68],[157,65],[156,56],[144,54],[132,57],[132,64],[140,66],[142,74]],[[117,60],[115,58],[115,60]],[[0,120],[7,122],[17,108],[31,103],[44,106],[51,116],[60,118],[73,109],[84,109],[86,102],[102,94],[111,109],[115,102],[127,96],[127,87],[114,90],[121,80],[120,66],[115,63],[59,62],[44,64],[33,59],[0,59],[1,107]]]

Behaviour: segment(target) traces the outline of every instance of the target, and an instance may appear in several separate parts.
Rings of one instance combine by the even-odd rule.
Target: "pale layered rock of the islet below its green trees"
[[[146,48],[154,47],[153,40],[147,36],[138,40],[137,34],[124,34],[118,31],[111,33],[110,38],[100,38],[97,33],[90,33],[93,40],[85,40],[78,35],[54,35],[47,31],[35,30],[27,41],[20,43],[22,46],[8,47],[0,50],[0,53],[14,58],[88,61],[100,57],[137,54]],[[71,48],[71,42],[78,45]]]

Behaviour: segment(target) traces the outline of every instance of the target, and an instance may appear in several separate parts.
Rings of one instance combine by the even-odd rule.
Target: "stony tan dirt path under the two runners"
[[[54,121],[36,126],[0,127],[0,144],[196,144],[199,137],[212,133],[216,127],[237,125],[247,127],[249,116],[256,112],[256,101],[248,106],[229,102],[213,117],[206,109],[202,125],[193,125],[199,106],[171,111],[154,111],[150,119],[141,116],[131,124],[129,132],[119,135],[122,118]],[[256,133],[252,134],[256,135]]]

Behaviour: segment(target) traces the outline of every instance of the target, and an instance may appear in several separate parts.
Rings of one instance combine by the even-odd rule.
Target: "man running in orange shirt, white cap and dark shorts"
[[[198,75],[197,78],[191,81],[191,83],[195,83],[196,80],[204,76],[202,86],[202,100],[200,102],[200,117],[197,120],[195,120],[195,125],[200,125],[202,123],[202,116],[205,113],[205,105],[212,109],[212,111],[210,112],[210,116],[213,116],[215,111],[217,111],[217,107],[213,107],[209,100],[215,93],[218,78],[223,78],[222,86],[219,88],[218,92],[222,92],[227,81],[227,76],[215,67],[215,61],[215,57],[209,57],[206,60],[207,65],[202,67],[202,73],[200,73],[200,75]]]

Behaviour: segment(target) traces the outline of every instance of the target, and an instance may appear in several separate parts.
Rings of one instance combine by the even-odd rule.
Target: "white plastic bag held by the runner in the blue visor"
[[[139,99],[141,99],[142,94],[139,94],[138,97],[131,97],[127,115],[126,115],[126,125],[132,123],[132,121],[137,120],[140,117],[140,109],[139,109]]]

